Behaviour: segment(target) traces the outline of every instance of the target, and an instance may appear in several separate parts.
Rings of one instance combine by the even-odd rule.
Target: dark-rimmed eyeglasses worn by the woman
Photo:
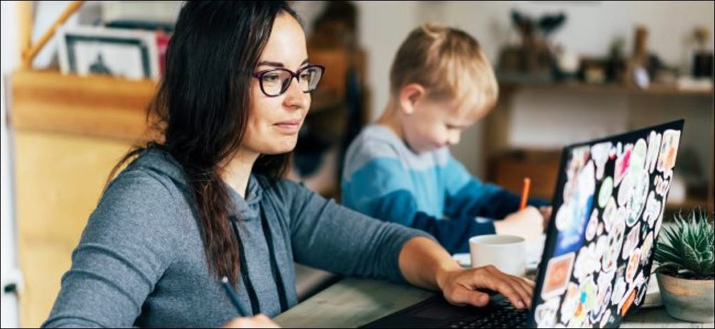
[[[268,97],[280,96],[290,87],[293,78],[298,81],[300,90],[310,93],[317,88],[317,84],[325,72],[325,67],[320,65],[309,65],[299,69],[295,73],[289,69],[269,69],[255,72],[253,77],[258,79],[261,91]]]

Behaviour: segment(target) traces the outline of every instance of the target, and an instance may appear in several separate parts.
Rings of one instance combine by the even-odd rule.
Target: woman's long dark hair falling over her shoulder
[[[299,20],[285,1],[187,1],[169,42],[164,78],[147,113],[164,142],[134,148],[110,175],[146,148],[171,154],[193,194],[209,270],[232,283],[240,271],[240,250],[228,218],[232,201],[220,173],[241,145],[251,73],[282,13]],[[259,156],[252,172],[279,178],[289,156]]]

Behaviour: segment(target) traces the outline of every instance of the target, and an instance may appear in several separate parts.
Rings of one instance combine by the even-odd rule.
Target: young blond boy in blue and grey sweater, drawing
[[[448,148],[490,111],[497,94],[475,39],[433,24],[414,29],[390,69],[383,115],[347,150],[342,202],[427,231],[450,253],[468,252],[468,239],[482,234],[541,236],[550,208],[517,212],[519,196],[470,176]]]

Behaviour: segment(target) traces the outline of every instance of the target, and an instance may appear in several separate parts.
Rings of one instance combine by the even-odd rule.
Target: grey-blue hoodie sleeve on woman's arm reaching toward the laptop
[[[407,241],[427,234],[384,223],[285,182],[290,203],[295,260],[342,275],[405,282],[398,259]]]

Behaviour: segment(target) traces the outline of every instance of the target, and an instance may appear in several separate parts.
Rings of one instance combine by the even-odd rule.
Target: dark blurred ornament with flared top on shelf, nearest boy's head
[[[563,25],[566,15],[547,14],[536,20],[512,10],[511,21],[521,34],[521,45],[502,49],[497,71],[499,79],[551,81],[555,65],[548,36]]]

